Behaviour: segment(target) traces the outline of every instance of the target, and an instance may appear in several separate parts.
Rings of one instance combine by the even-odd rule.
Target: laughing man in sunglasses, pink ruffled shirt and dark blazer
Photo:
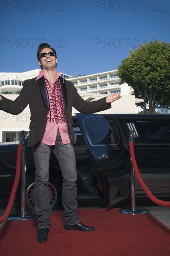
[[[62,203],[65,229],[94,230],[93,227],[81,223],[77,214],[77,172],[72,146],[75,143],[72,107],[83,114],[99,112],[111,108],[111,102],[121,96],[115,93],[98,101],[86,102],[77,93],[74,85],[57,72],[58,59],[54,48],[47,43],[40,44],[37,58],[42,71],[36,78],[24,81],[16,100],[11,101],[0,96],[0,109],[18,115],[28,104],[30,107],[31,121],[27,146],[33,147],[36,169],[34,195],[38,228],[36,240],[42,243],[48,240],[49,217],[52,214],[48,193],[51,151],[59,162],[63,176]]]

